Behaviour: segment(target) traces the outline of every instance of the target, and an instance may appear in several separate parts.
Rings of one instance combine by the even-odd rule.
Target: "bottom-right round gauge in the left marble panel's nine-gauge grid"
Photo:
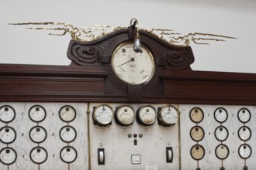
[[[63,162],[71,163],[71,162],[75,161],[75,159],[78,156],[78,153],[75,150],[75,148],[73,148],[71,146],[66,146],[66,147],[61,149],[60,155],[61,155],[61,160]]]

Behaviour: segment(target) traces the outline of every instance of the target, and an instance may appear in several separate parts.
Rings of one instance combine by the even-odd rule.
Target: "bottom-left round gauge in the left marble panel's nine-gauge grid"
[[[11,165],[16,162],[17,153],[13,148],[5,147],[0,151],[0,162]]]

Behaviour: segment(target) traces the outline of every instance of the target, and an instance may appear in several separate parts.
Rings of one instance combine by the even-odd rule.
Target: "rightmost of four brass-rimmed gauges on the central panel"
[[[162,107],[158,114],[158,118],[162,124],[175,124],[176,121],[178,121],[178,110],[171,105]]]

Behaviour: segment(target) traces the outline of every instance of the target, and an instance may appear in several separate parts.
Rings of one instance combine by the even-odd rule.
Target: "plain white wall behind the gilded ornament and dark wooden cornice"
[[[1,1],[0,63],[68,65],[70,36],[46,36],[45,31],[9,26],[9,22],[67,22],[74,26],[108,24],[210,32],[235,36],[210,46],[192,44],[193,70],[256,73],[256,2],[168,0]]]

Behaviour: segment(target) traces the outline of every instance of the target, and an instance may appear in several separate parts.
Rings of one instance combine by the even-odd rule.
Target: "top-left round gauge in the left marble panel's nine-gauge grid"
[[[14,120],[16,116],[15,110],[8,105],[0,107],[0,121],[9,123]]]

